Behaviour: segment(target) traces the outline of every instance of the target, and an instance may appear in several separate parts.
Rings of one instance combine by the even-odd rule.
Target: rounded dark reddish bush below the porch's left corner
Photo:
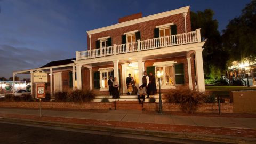
[[[93,91],[91,90],[73,90],[68,93],[70,102],[90,102],[95,98]]]

